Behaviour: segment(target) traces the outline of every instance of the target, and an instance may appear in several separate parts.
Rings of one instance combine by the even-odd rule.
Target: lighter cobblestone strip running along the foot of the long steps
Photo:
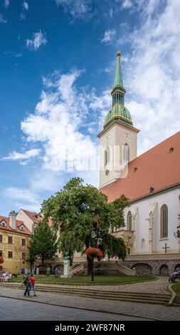
[[[129,285],[128,285],[129,286]],[[112,301],[102,299],[92,299],[84,297],[75,297],[66,294],[54,294],[38,292],[38,297],[23,297],[23,290],[20,289],[9,289],[6,287],[0,287],[0,296],[11,297],[16,299],[23,299],[23,301],[38,301],[43,304],[54,304],[55,306],[67,306],[85,309],[92,311],[100,311],[103,313],[111,312],[120,314],[120,319],[125,320],[122,314],[141,317],[147,319],[157,320],[180,320],[180,308],[179,306],[162,306],[155,304],[140,304],[129,301]],[[41,306],[43,306],[43,304]],[[2,305],[1,305],[2,306]],[[38,304],[37,304],[38,306]],[[47,306],[47,305],[46,305]],[[37,307],[38,309],[38,307]],[[81,313],[81,312],[80,312]],[[89,312],[87,312],[89,314]],[[83,315],[83,314],[82,314]],[[117,319],[118,315],[116,315]],[[68,319],[70,320],[70,319]]]

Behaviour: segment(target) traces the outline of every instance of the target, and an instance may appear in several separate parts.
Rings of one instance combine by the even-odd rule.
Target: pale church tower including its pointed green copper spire
[[[128,163],[137,157],[137,133],[129,110],[125,107],[121,53],[117,52],[112,108],[107,113],[100,138],[100,188],[126,177]]]

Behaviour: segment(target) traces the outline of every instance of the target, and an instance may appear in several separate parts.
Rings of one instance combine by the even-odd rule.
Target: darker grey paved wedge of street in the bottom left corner
[[[122,321],[122,316],[97,311],[60,306],[42,305],[35,302],[1,298],[1,321]],[[123,316],[123,321],[143,321],[142,318]]]

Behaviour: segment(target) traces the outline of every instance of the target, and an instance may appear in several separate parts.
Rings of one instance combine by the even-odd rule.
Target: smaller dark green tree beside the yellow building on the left
[[[38,223],[34,229],[32,239],[28,245],[28,262],[33,264],[41,259],[42,264],[46,259],[53,259],[58,251],[57,232],[49,227],[48,221]]]

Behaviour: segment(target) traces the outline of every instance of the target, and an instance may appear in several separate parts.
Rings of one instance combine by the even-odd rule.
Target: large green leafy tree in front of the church
[[[102,237],[100,249],[108,257],[125,259],[126,247],[123,239],[110,234],[110,230],[125,226],[124,210],[129,201],[122,195],[114,202],[108,202],[92,185],[83,185],[83,179],[72,178],[63,190],[45,200],[42,213],[46,220],[51,217],[55,228],[60,230],[60,251],[85,253],[92,246],[91,232],[98,230]]]

